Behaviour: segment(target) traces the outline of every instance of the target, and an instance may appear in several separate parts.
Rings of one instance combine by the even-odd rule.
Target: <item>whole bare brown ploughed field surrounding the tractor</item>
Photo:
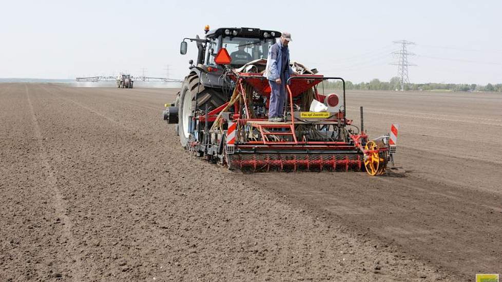
[[[474,281],[502,274],[502,95],[349,92],[397,171],[230,172],[176,90],[0,84],[0,281]]]

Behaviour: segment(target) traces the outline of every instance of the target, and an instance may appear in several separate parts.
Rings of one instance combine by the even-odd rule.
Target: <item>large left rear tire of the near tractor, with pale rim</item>
[[[178,100],[178,113],[179,113],[179,120],[178,120],[178,135],[180,136],[180,143],[181,146],[188,148],[188,138],[189,136],[186,136],[186,131],[185,129],[187,125],[186,119],[184,119],[184,115],[192,115],[193,113],[184,113],[184,103],[186,100],[191,101],[191,108],[193,110],[195,106],[195,96],[197,94],[197,108],[201,110],[205,110],[206,105],[208,110],[213,110],[218,108],[219,106],[223,105],[225,102],[227,102],[227,97],[222,91],[219,91],[218,89],[214,88],[207,88],[204,87],[202,84],[199,85],[199,76],[195,73],[192,73],[188,75],[185,78],[185,81],[183,82],[181,92],[179,95],[179,100]],[[185,99],[185,96],[187,96],[187,99]],[[185,108],[186,109],[186,108]],[[185,125],[183,124],[185,120]]]

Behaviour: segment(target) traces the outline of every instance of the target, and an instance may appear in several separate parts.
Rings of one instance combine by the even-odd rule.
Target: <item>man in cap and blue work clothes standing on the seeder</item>
[[[289,76],[296,74],[289,66],[289,49],[291,33],[283,32],[279,42],[268,49],[267,66],[263,76],[270,84],[270,103],[268,106],[268,121],[284,121],[284,102],[286,99],[286,82]]]

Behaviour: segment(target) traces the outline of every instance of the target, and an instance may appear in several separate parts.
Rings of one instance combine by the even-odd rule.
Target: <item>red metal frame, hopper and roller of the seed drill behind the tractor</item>
[[[235,114],[240,112],[241,104],[237,100],[234,105],[234,114],[228,115],[227,122],[236,123],[238,125],[248,125],[250,127],[257,128],[261,134],[261,141],[248,141],[245,143],[235,143],[232,145],[227,145],[233,147],[231,152],[227,150],[227,153],[235,154],[235,158],[232,160],[233,166],[240,168],[243,167],[253,167],[255,170],[260,166],[267,166],[267,170],[272,167],[279,167],[281,170],[284,166],[294,167],[296,170],[298,167],[306,167],[310,169],[311,167],[319,167],[321,170],[323,167],[331,167],[337,169],[344,167],[349,170],[349,167],[356,166],[361,169],[364,162],[364,155],[371,153],[380,153],[387,151],[388,148],[379,148],[377,150],[365,150],[364,145],[368,141],[368,135],[364,131],[360,131],[359,134],[349,135],[353,143],[347,142],[335,142],[335,141],[307,141],[306,139],[298,140],[295,132],[295,125],[302,124],[302,122],[296,122],[294,118],[294,107],[293,99],[303,93],[305,90],[316,86],[323,80],[327,79],[340,79],[343,82],[343,105],[345,105],[345,81],[341,77],[325,77],[323,75],[296,75],[288,79],[286,85],[286,107],[291,113],[291,120],[284,123],[272,123],[268,122],[266,118],[251,118],[249,116],[249,110],[247,105],[247,98],[243,82],[246,82],[254,87],[254,89],[264,96],[269,96],[271,88],[268,84],[268,80],[259,73],[234,73],[231,78],[236,82],[236,88],[238,94],[242,96],[242,106],[245,107],[245,116],[240,116],[240,114]],[[323,95],[320,95],[315,88],[315,96],[318,100],[322,102]],[[228,106],[228,103],[210,111],[207,113],[207,121],[214,122],[217,116]],[[287,110],[285,110],[285,117]],[[206,115],[201,115],[198,117],[199,122],[206,121]],[[325,119],[322,122],[313,123],[315,125],[337,125],[341,123],[342,126],[347,126],[352,124],[352,120],[346,119],[345,111],[339,112],[336,117],[331,117]],[[304,124],[304,123],[303,123]],[[283,128],[289,131],[283,132],[266,132],[265,129],[277,129]],[[292,140],[280,140],[271,142],[268,140],[268,135],[288,135],[292,136]],[[329,157],[309,159],[308,154],[319,153],[323,155],[328,155]],[[241,159],[241,154],[264,154],[265,158],[256,159]],[[294,154],[292,158],[283,159],[279,157],[271,158],[269,154]],[[297,159],[295,154],[306,154],[303,159]],[[335,155],[345,154],[345,157],[337,158]],[[347,155],[357,155],[355,159],[349,159]]]

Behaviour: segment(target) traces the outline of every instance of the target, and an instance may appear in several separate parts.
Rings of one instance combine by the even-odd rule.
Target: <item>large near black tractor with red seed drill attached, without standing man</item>
[[[205,27],[205,38],[184,38],[198,49],[189,73],[163,118],[175,124],[183,148],[229,169],[245,171],[366,170],[385,173],[396,152],[392,134],[370,140],[361,123],[346,117],[345,80],[300,63],[286,85],[284,122],[267,117],[271,87],[263,76],[268,49],[281,32],[258,28]],[[325,93],[327,81],[341,93]]]

